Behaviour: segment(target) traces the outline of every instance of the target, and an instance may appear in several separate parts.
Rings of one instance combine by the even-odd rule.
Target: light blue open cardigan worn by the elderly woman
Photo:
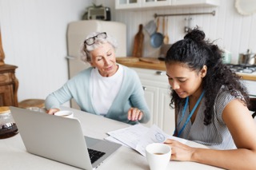
[[[115,97],[108,113],[105,117],[122,121],[128,124],[136,124],[138,122],[129,121],[127,119],[128,110],[131,107],[138,108],[143,112],[141,123],[146,123],[150,120],[150,109],[146,105],[144,91],[138,74],[128,67],[122,65],[124,69],[124,77],[118,95]],[[54,93],[50,93],[46,97],[46,109],[60,108],[60,105],[70,101],[71,98],[78,103],[82,111],[99,115],[94,109],[94,103],[91,101],[90,92],[90,73],[94,69],[84,69],[75,77],[66,82],[62,88]]]

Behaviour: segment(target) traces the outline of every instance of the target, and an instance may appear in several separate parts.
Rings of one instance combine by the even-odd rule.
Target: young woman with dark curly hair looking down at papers
[[[226,169],[256,169],[256,125],[238,75],[222,64],[222,51],[198,28],[166,53],[166,74],[175,106],[174,136],[206,144],[192,148],[166,140],[171,160]]]

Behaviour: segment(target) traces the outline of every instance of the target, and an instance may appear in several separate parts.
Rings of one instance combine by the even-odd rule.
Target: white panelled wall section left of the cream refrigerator
[[[5,63],[17,65],[18,101],[42,98],[68,79],[66,28],[91,0],[0,0]]]

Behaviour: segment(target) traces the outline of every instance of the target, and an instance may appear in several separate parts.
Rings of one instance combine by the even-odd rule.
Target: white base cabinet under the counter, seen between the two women
[[[158,125],[170,135],[175,128],[174,109],[170,108],[170,85],[165,71],[156,69],[134,69],[142,82],[146,103],[150,108],[151,119],[146,124]]]

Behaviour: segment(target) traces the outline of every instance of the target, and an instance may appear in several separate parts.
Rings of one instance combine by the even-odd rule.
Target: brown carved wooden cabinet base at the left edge
[[[15,65],[0,65],[0,106],[18,107],[18,79],[15,77]]]

